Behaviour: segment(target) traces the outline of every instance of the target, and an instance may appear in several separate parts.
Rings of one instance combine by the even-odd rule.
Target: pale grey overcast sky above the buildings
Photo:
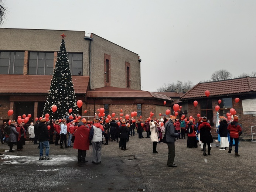
[[[3,0],[1,27],[95,33],[139,54],[142,90],[256,71],[256,0]]]

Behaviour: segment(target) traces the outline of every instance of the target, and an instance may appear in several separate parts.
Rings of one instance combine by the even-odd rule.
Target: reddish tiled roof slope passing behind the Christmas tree
[[[52,75],[0,74],[0,93],[48,93]],[[72,76],[75,93],[86,93],[89,76]]]

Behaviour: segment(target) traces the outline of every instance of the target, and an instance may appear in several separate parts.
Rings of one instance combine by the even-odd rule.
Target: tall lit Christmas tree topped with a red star
[[[62,34],[61,46],[57,56],[57,62],[52,75],[51,86],[47,100],[44,105],[44,115],[50,114],[50,119],[63,119],[65,115],[78,114],[76,96],[69,68],[68,54],[66,53],[64,38]],[[52,112],[52,106],[57,106],[57,111]],[[72,109],[72,113],[68,113]]]

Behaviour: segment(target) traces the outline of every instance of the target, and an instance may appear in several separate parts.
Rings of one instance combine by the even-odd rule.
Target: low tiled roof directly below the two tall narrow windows
[[[172,101],[170,97],[166,95],[161,95],[158,93],[153,93],[153,92],[148,92],[143,90],[126,89],[126,88],[115,88],[110,86],[89,90],[86,96],[87,97],[108,97],[108,98],[156,98],[161,100]]]

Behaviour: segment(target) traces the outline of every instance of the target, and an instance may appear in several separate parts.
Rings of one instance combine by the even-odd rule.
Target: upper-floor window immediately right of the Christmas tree
[[[72,75],[83,75],[83,54],[68,53],[69,68]]]

